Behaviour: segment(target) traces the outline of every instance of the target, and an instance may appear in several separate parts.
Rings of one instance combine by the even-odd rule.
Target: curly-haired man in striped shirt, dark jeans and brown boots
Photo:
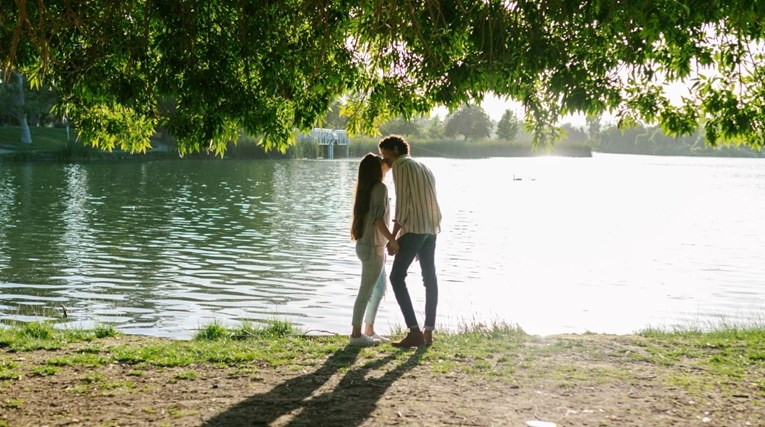
[[[441,231],[441,209],[436,199],[436,180],[425,165],[409,157],[409,144],[403,137],[391,135],[380,141],[380,154],[392,167],[393,184],[396,186],[396,217],[393,235],[397,236],[399,249],[395,252],[390,283],[396,295],[409,333],[403,340],[393,343],[396,347],[417,347],[433,343],[438,305],[438,281],[436,279],[436,235]],[[399,235],[400,233],[400,235]],[[389,252],[393,252],[389,247]],[[393,255],[394,253],[391,253]],[[425,285],[425,324],[420,331],[412,300],[406,288],[406,275],[412,261],[417,257]]]

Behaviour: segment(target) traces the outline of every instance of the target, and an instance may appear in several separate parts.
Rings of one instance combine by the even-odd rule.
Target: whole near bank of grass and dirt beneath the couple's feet
[[[210,325],[190,341],[2,329],[0,426],[765,420],[764,329],[538,337],[498,324],[437,334],[429,348],[346,344],[283,322]]]

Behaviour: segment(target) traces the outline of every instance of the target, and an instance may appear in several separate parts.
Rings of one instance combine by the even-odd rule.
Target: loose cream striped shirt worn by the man
[[[396,219],[401,234],[438,234],[441,209],[436,200],[436,179],[425,165],[406,154],[393,162]]]

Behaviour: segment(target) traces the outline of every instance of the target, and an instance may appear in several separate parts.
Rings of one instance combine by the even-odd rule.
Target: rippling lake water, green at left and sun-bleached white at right
[[[765,161],[423,160],[444,213],[441,327],[763,321]],[[348,237],[356,167],[0,164],[0,323],[110,322],[185,338],[213,320],[278,318],[347,333],[360,272]],[[422,317],[416,265],[409,277]],[[377,323],[403,326],[390,289]]]

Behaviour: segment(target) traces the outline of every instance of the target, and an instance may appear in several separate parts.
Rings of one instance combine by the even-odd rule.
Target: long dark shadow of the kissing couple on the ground
[[[286,425],[360,425],[374,411],[385,391],[419,364],[426,349],[418,348],[402,360],[399,360],[401,352],[396,352],[354,366],[360,351],[357,346],[337,350],[316,371],[251,396],[203,425],[261,426],[277,420]],[[386,369],[388,364],[395,367]],[[333,389],[319,391],[338,373],[342,378]],[[372,373],[374,375],[368,378]],[[280,420],[282,417],[284,419]]]

